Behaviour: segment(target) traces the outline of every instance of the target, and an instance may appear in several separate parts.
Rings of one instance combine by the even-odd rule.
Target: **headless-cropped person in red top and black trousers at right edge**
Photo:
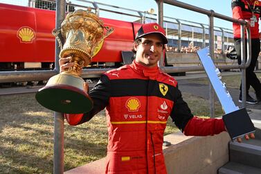
[[[246,103],[255,104],[261,101],[261,84],[254,73],[255,64],[260,53],[259,25],[261,2],[255,0],[233,0],[231,3],[233,18],[247,21],[246,27],[251,31],[251,63],[246,68]],[[235,51],[237,62],[241,64],[241,33],[240,24],[233,23]],[[246,51],[247,52],[247,51]],[[249,95],[250,86],[255,89],[256,100]],[[242,102],[242,84],[240,85],[240,98]]]

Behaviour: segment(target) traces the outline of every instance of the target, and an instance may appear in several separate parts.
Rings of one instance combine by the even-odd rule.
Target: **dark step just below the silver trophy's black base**
[[[243,143],[229,143],[230,162],[261,168],[261,140],[250,139]]]

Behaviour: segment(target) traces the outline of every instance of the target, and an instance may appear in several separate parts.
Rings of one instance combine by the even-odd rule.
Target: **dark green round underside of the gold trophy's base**
[[[93,107],[93,101],[88,94],[70,85],[43,87],[39,89],[35,98],[47,109],[66,114],[89,112]]]

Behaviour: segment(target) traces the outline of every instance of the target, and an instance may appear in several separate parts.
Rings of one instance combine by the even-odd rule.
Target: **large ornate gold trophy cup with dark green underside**
[[[38,103],[55,112],[89,112],[93,101],[87,94],[88,86],[80,73],[99,51],[105,37],[113,31],[113,28],[105,27],[103,21],[91,10],[75,10],[66,15],[61,28],[54,30],[53,35],[62,49],[60,58],[71,56],[71,62],[75,65],[51,77],[46,86],[39,89],[35,95]]]

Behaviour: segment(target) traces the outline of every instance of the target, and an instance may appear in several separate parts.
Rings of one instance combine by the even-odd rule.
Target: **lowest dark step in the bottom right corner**
[[[218,170],[218,174],[260,174],[261,168],[246,166],[236,162],[228,162]]]

